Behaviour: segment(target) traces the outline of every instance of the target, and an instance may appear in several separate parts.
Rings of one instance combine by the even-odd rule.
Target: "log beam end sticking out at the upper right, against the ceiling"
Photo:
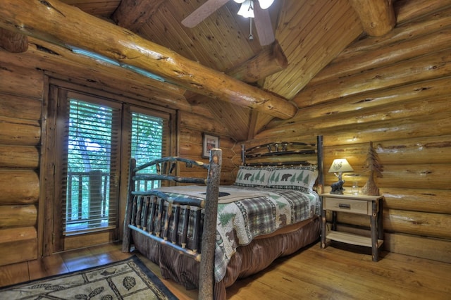
[[[350,4],[371,37],[385,35],[395,27],[393,0],[350,0]]]

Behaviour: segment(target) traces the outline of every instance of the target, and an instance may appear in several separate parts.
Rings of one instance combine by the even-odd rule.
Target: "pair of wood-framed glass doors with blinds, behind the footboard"
[[[51,85],[44,176],[53,178],[45,201],[53,206],[46,208],[44,254],[120,237],[130,157],[143,163],[171,155],[175,112],[155,108]]]

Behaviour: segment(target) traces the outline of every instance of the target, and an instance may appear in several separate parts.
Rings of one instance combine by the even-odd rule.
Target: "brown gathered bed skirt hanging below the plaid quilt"
[[[246,246],[239,246],[228,263],[226,276],[220,282],[215,282],[215,299],[226,299],[226,287],[233,285],[237,279],[258,273],[276,258],[288,256],[316,242],[320,231],[320,218],[315,216],[303,221],[296,230],[254,239]],[[137,251],[159,265],[163,278],[174,280],[186,289],[198,287],[199,262],[135,230],[132,230],[132,240]]]

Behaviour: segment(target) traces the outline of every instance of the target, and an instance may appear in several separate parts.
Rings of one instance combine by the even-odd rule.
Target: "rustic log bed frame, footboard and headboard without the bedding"
[[[300,148],[299,148],[300,147]],[[316,180],[316,191],[323,192],[323,139],[317,137],[316,144],[304,142],[277,142],[254,146],[245,149],[242,146],[243,165],[313,165],[317,164],[319,176]],[[295,160],[279,160],[279,157],[294,157]],[[306,157],[299,161],[299,157]],[[315,161],[311,161],[314,157]],[[252,161],[252,162],[248,162]],[[207,170],[206,178],[178,177],[173,171],[178,163],[185,163],[187,168],[197,167]],[[216,218],[218,211],[219,182],[222,165],[221,149],[212,149],[209,163],[193,161],[178,156],[160,158],[144,165],[136,166],[134,158],[130,160],[128,182],[128,200],[124,221],[123,246],[129,252],[132,244],[132,230],[140,235],[166,245],[178,253],[194,258],[199,266],[199,299],[214,299],[214,249],[216,243]],[[140,174],[139,171],[155,166],[156,173]],[[206,199],[171,197],[158,190],[137,190],[137,183],[161,181],[161,185],[169,182],[180,184],[206,185]],[[164,182],[164,183],[163,183]],[[185,210],[185,211],[183,211]],[[202,213],[202,211],[204,213]],[[179,215],[186,218],[179,219]],[[166,218],[163,218],[166,214]],[[147,215],[154,216],[147,218]],[[172,216],[172,218],[171,218]],[[180,236],[178,222],[188,222],[192,218],[194,230],[192,235],[186,230]],[[162,220],[171,220],[162,222]],[[184,227],[186,228],[186,226]],[[202,238],[201,238],[202,237]],[[202,243],[201,243],[202,241]],[[199,249],[201,250],[199,252]],[[201,259],[202,254],[202,259]]]

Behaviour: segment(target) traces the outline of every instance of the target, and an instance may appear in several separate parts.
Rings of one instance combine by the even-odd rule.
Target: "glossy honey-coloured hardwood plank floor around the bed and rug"
[[[345,248],[346,247],[346,248]],[[81,270],[128,258],[121,244],[68,251],[39,261],[0,267],[0,286]],[[137,253],[159,277],[158,267]],[[163,283],[179,299],[197,299],[172,280]],[[366,249],[314,244],[279,258],[266,271],[229,287],[228,299],[450,299],[451,264],[383,252],[377,263]]]

